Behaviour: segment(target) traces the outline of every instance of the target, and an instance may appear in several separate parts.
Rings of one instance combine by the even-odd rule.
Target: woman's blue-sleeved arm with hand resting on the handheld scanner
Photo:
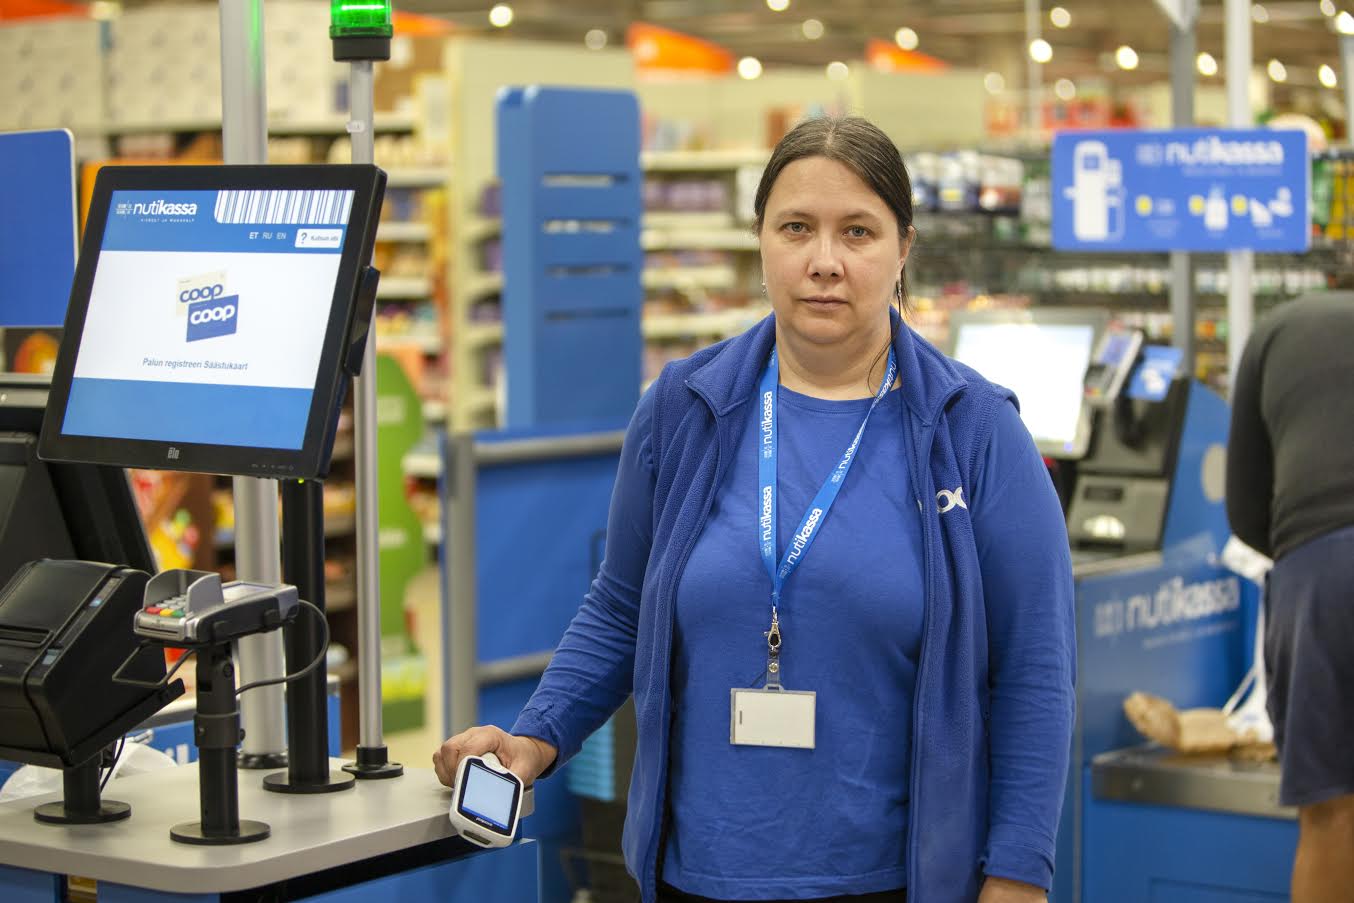
[[[607,552],[536,692],[512,732],[473,727],[443,743],[433,768],[451,787],[463,755],[496,753],[531,783],[569,761],[584,739],[630,696],[639,596],[653,543],[653,393],[639,399],[626,432],[607,516]]]

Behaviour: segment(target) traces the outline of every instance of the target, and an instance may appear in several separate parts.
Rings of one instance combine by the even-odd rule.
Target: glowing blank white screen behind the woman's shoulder
[[[1090,443],[1083,382],[1105,315],[1002,311],[956,315],[953,356],[1016,393],[1040,452],[1082,458]]]

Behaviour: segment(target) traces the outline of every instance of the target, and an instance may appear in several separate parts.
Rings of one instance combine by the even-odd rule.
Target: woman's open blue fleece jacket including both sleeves
[[[643,903],[665,830],[672,638],[678,579],[751,416],[774,341],[749,332],[669,364],[631,421],[603,565],[515,734],[559,750],[552,768],[634,693],[638,742],[624,833]],[[903,447],[923,512],[925,620],[913,704],[910,903],[972,903],[982,876],[1049,887],[1072,730],[1071,560],[1056,495],[1030,443],[1011,474],[980,472],[1013,399],[899,325]],[[1018,512],[979,542],[975,483]],[[963,490],[963,493],[960,491]],[[926,493],[933,497],[926,498]],[[651,505],[634,504],[635,498]],[[964,498],[965,504],[959,504]],[[994,533],[990,528],[982,531]],[[617,555],[616,550],[628,550]]]

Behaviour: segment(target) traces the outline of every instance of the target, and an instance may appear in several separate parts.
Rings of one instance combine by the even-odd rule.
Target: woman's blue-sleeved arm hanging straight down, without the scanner
[[[1076,619],[1067,525],[1044,459],[1003,405],[975,481],[987,608],[988,833],[979,903],[1044,900],[1071,754]]]

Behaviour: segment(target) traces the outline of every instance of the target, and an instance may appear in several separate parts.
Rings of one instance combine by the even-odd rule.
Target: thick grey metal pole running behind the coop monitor
[[[221,0],[221,138],[227,164],[268,160],[264,100],[263,0]],[[236,575],[260,583],[282,582],[278,536],[278,483],[237,477]],[[282,677],[282,632],[241,639],[236,647],[240,684]],[[240,697],[245,739],[244,768],[287,764],[283,736],[283,688],[261,686]]]

